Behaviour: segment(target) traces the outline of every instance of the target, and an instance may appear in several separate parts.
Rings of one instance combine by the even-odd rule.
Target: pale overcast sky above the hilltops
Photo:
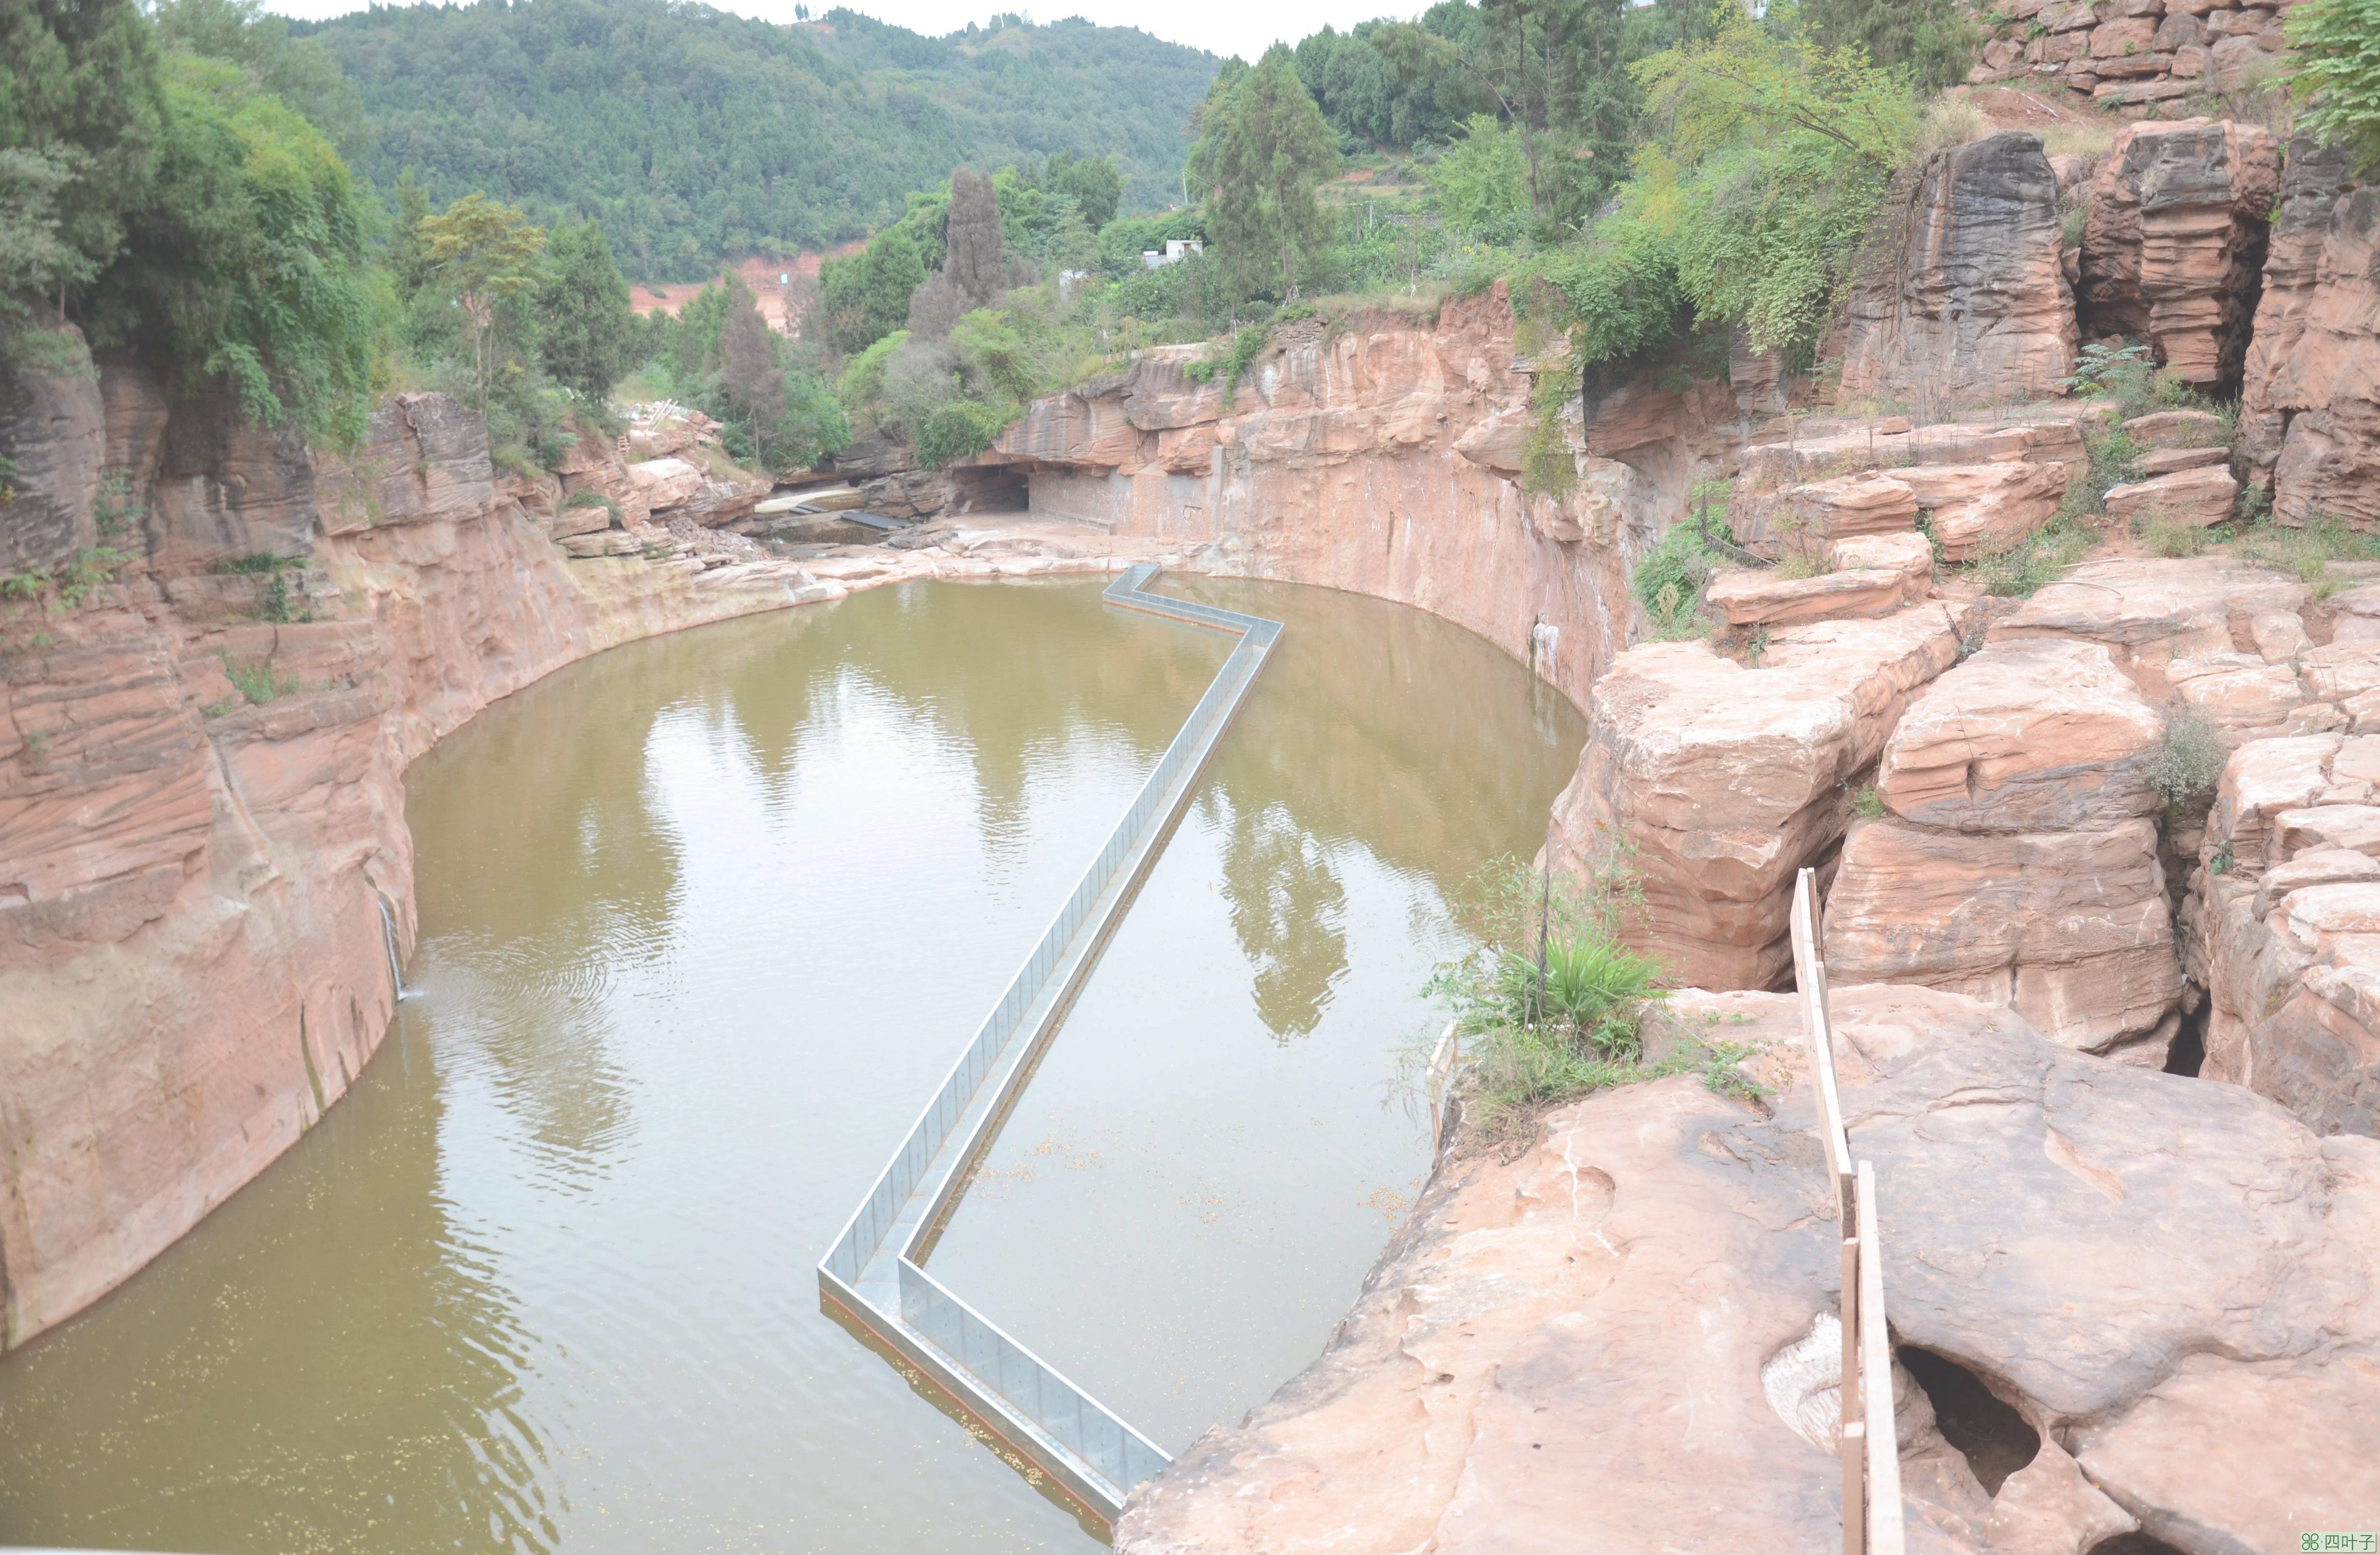
[[[833,10],[835,0],[814,2],[812,14]],[[712,0],[721,10],[771,21],[793,21],[793,0]],[[1428,0],[1404,0],[1404,7],[1421,12]],[[355,0],[267,0],[269,10],[286,17],[338,17],[362,10]],[[1216,55],[1240,55],[1254,60],[1278,43],[1297,43],[1316,33],[1328,21],[1340,31],[1373,17],[1397,17],[1399,0],[1192,0],[1190,5],[1147,5],[1147,0],[1059,0],[1050,7],[1031,5],[983,5],[981,0],[876,0],[852,5],[854,12],[881,17],[895,26],[919,33],[942,36],[969,21],[988,21],[1002,10],[1014,10],[1035,21],[1061,17],[1088,17],[1104,26],[1138,26],[1169,43],[1188,43]]]

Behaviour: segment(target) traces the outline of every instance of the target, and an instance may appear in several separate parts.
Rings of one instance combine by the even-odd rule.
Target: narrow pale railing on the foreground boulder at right
[[[1818,1091],[1818,1138],[1835,1176],[1842,1231],[1842,1555],[1902,1555],[1902,1448],[1892,1422],[1892,1336],[1885,1326],[1885,1250],[1875,1229],[1875,1167],[1852,1162],[1835,1083],[1835,1026],[1818,955],[1818,886],[1792,888],[1792,969]],[[1856,1405],[1856,1407],[1854,1407]]]

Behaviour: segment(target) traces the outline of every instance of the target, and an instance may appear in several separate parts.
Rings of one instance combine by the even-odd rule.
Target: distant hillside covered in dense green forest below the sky
[[[1126,205],[1180,198],[1183,124],[1216,60],[1133,29],[1000,17],[921,38],[835,10],[776,26],[666,0],[481,0],[293,24],[412,169],[540,221],[595,217],[635,279],[862,236],[957,162],[1114,155]]]

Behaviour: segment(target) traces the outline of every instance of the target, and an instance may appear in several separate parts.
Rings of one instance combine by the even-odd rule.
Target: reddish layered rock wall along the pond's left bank
[[[585,652],[797,595],[754,569],[564,562],[536,517],[559,491],[500,483],[436,395],[317,472],[138,369],[81,383],[19,376],[12,402],[71,414],[10,429],[50,495],[0,533],[55,552],[50,531],[76,538],[55,493],[105,469],[140,560],[76,607],[0,607],[7,1345],[148,1262],[362,1072],[414,931],[412,755]],[[217,572],[257,552],[295,564]]]

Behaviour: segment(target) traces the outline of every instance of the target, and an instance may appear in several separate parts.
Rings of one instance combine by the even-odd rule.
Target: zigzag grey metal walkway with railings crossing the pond
[[[1133,567],[1107,586],[1102,600],[1230,631],[1240,643],[819,1262],[823,1300],[916,1364],[962,1410],[1102,1522],[1114,1522],[1126,1493],[1171,1460],[935,1281],[923,1267],[923,1248],[966,1191],[976,1160],[1023,1091],[1033,1057],[1090,976],[1133,891],[1188,807],[1200,769],[1280,638],[1280,622],[1147,593],[1152,576],[1157,567]]]

